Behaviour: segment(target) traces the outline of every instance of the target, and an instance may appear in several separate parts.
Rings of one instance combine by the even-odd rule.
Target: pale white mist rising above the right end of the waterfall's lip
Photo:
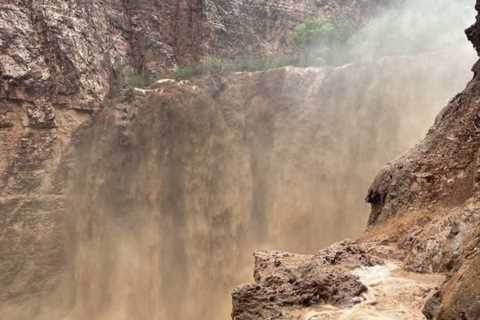
[[[464,30],[474,21],[474,5],[470,0],[399,1],[354,34],[344,54],[355,61],[374,61],[453,49],[458,59],[471,62],[473,53]]]

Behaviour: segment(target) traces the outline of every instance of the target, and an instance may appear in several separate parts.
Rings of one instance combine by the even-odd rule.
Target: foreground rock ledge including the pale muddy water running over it
[[[433,301],[431,297],[438,292],[445,276],[405,271],[402,260],[397,260],[399,256],[394,254],[395,251],[398,249],[379,242],[345,241],[322,250],[315,256],[279,252],[257,253],[255,283],[241,286],[234,291],[232,318],[423,320],[425,317],[422,308],[427,301]],[[386,258],[379,258],[380,256]],[[296,287],[297,291],[292,292],[286,290],[285,285],[272,285],[273,281],[268,279],[286,281],[289,277],[298,276],[308,279],[305,274],[298,272],[304,268],[316,270],[321,276],[338,279],[345,284],[327,282],[326,287],[318,288],[318,295],[325,299],[314,300],[313,303],[304,304],[288,299],[277,301],[277,297],[285,298],[285,292],[289,292],[292,299],[309,291],[304,287]],[[352,281],[354,286],[350,285]],[[270,288],[270,291],[267,291],[265,286]],[[276,293],[273,292],[274,289],[277,290]],[[337,289],[340,291],[336,291]],[[337,299],[339,294],[340,300]],[[430,305],[433,310],[433,304]],[[438,305],[436,306],[438,308]]]

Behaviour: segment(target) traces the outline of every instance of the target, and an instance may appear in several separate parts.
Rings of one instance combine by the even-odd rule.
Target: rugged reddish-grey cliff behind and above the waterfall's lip
[[[95,109],[115,65],[158,75],[208,55],[282,53],[289,32],[307,16],[344,15],[361,23],[380,4],[9,0],[0,16],[0,97]]]

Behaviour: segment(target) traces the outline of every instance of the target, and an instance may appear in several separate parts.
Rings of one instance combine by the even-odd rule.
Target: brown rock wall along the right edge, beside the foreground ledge
[[[477,51],[478,29],[477,16],[466,32]],[[473,71],[474,79],[438,115],[425,140],[382,170],[367,197],[374,230],[410,220],[404,220],[403,236],[397,238],[410,251],[407,267],[449,272],[425,306],[428,319],[480,317],[478,63]]]

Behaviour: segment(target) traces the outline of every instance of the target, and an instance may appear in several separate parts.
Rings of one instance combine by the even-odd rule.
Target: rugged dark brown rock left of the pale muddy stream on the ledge
[[[381,264],[354,242],[342,242],[314,256],[255,253],[255,283],[232,294],[235,320],[285,319],[284,308],[317,304],[352,305],[367,291],[349,271]]]

